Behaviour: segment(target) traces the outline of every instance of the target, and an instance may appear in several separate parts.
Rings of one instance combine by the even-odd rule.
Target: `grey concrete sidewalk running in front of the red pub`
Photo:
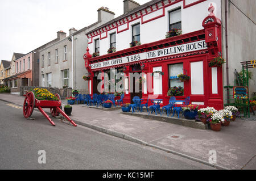
[[[23,105],[24,98],[0,94],[0,100]],[[101,111],[73,106],[77,124],[124,137],[127,140],[170,151],[208,163],[209,151],[217,151],[217,165],[228,169],[256,169],[256,117],[237,119],[221,132],[183,127],[141,117],[123,115],[121,110]],[[184,155],[183,155],[184,154]]]

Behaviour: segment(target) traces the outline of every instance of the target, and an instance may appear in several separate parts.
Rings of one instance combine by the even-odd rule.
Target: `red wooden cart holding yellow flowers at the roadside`
[[[46,112],[44,112],[43,108],[49,108],[51,110],[51,114],[53,117],[58,116],[60,113],[67,118],[67,120],[72,123],[75,127],[77,126],[76,123],[74,123],[74,121],[72,121],[68,115],[65,114],[65,112],[63,112],[61,110],[61,100],[60,100],[60,95],[59,94],[55,94],[59,100],[38,100],[35,98],[35,94],[34,92],[30,91],[27,92],[25,100],[24,100],[24,104],[23,104],[23,115],[24,117],[28,118],[32,115],[34,108],[38,108],[38,110],[40,112],[42,112],[42,114],[46,117],[46,119],[48,119],[48,121],[55,126],[55,124],[53,123],[53,121],[51,120],[51,118],[47,115]]]

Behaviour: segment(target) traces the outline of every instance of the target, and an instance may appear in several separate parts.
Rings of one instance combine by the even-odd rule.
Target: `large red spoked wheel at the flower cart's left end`
[[[34,92],[28,92],[24,104],[23,104],[23,115],[28,118],[32,115],[35,107],[35,95]]]

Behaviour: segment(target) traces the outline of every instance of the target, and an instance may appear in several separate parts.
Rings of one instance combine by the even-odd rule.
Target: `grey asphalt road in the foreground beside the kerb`
[[[0,169],[213,169],[59,119],[53,127],[36,110],[27,120],[22,107],[0,101]],[[39,150],[46,164],[38,163]]]

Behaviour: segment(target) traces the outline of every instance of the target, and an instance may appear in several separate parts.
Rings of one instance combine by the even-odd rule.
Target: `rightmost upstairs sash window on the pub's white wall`
[[[176,28],[181,30],[181,9],[169,12],[169,31]]]

